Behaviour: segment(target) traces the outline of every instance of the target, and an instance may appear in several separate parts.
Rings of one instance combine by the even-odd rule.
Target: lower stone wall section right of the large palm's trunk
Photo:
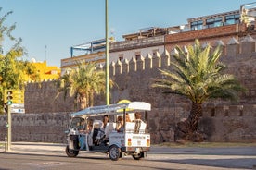
[[[256,142],[256,104],[204,109],[199,127],[209,141]]]

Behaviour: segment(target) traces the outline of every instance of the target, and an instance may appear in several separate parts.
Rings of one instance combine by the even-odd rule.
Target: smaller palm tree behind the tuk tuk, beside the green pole
[[[58,80],[58,91],[64,91],[64,98],[68,92],[70,96],[75,95],[76,103],[83,110],[93,105],[95,94],[105,91],[105,79],[105,72],[96,69],[96,63],[80,62]]]

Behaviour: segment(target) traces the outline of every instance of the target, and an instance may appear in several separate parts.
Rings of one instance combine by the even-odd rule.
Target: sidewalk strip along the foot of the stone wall
[[[34,154],[63,154],[66,155],[65,143],[45,142],[12,142],[11,150],[8,152],[34,153]],[[5,151],[5,143],[0,142],[0,152]],[[162,147],[151,145],[148,154],[201,154],[201,155],[248,155],[256,156],[256,147]]]

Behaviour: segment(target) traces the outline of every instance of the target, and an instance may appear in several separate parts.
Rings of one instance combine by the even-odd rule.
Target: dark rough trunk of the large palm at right
[[[201,116],[202,116],[202,104],[192,103],[190,115],[188,116],[188,119],[187,119],[192,133],[198,130],[198,122]]]

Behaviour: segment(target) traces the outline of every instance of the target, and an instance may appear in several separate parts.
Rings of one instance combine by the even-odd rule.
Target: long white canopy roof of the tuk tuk
[[[71,114],[72,117],[78,115],[117,115],[121,114],[125,110],[133,110],[133,111],[150,111],[151,104],[145,102],[131,102],[131,103],[116,103],[116,104],[109,104],[109,105],[100,105],[94,107],[88,107],[84,110]]]

